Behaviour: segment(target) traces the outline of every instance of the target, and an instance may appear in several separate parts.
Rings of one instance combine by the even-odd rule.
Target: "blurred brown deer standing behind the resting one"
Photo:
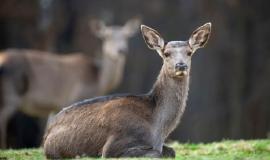
[[[123,26],[92,20],[92,32],[102,43],[101,65],[83,53],[57,55],[30,49],[0,53],[0,141],[6,148],[7,124],[16,111],[33,117],[52,112],[87,97],[108,93],[121,82],[128,39],[139,27],[133,18]]]

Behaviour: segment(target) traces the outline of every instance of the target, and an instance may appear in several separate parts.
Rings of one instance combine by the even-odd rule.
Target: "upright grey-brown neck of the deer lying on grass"
[[[156,136],[161,140],[175,129],[186,107],[189,89],[189,76],[174,79],[166,74],[162,67],[152,90],[156,107],[153,115],[153,126]]]

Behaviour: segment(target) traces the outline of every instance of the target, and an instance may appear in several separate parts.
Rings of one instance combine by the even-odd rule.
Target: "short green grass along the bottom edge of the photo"
[[[175,149],[176,159],[179,160],[270,160],[270,139],[207,144],[172,143],[170,146]],[[43,160],[45,157],[42,149],[0,150],[0,160],[6,159]]]

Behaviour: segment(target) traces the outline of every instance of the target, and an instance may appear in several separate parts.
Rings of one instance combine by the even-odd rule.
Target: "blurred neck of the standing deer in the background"
[[[98,78],[98,95],[104,95],[119,85],[123,78],[125,56],[104,55]]]

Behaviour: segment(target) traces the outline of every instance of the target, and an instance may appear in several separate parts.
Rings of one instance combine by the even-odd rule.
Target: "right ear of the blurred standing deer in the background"
[[[124,33],[127,37],[133,36],[135,33],[138,32],[139,26],[141,23],[140,18],[133,18],[126,22],[123,27]]]

